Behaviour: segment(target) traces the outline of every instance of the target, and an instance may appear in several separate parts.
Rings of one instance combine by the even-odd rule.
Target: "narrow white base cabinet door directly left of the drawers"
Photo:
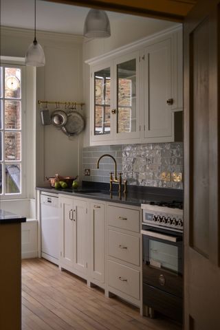
[[[90,203],[90,273],[100,283],[104,283],[104,205]]]

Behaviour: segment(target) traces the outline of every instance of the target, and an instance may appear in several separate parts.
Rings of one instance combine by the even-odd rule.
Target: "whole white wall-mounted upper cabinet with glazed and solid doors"
[[[90,145],[181,140],[181,44],[175,28],[87,61]]]

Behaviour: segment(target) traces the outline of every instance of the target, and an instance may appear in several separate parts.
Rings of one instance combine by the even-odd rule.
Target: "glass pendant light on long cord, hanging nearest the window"
[[[34,0],[34,41],[28,47],[26,52],[25,64],[32,67],[43,67],[45,65],[45,55],[43,48],[36,41],[36,0]]]

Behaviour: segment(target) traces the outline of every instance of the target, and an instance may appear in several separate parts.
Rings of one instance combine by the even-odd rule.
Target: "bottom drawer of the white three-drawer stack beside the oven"
[[[108,262],[109,286],[140,299],[140,272],[113,261]]]

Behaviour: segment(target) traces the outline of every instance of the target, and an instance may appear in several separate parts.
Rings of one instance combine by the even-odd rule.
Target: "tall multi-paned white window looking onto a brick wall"
[[[0,196],[23,197],[25,66],[0,67]]]

